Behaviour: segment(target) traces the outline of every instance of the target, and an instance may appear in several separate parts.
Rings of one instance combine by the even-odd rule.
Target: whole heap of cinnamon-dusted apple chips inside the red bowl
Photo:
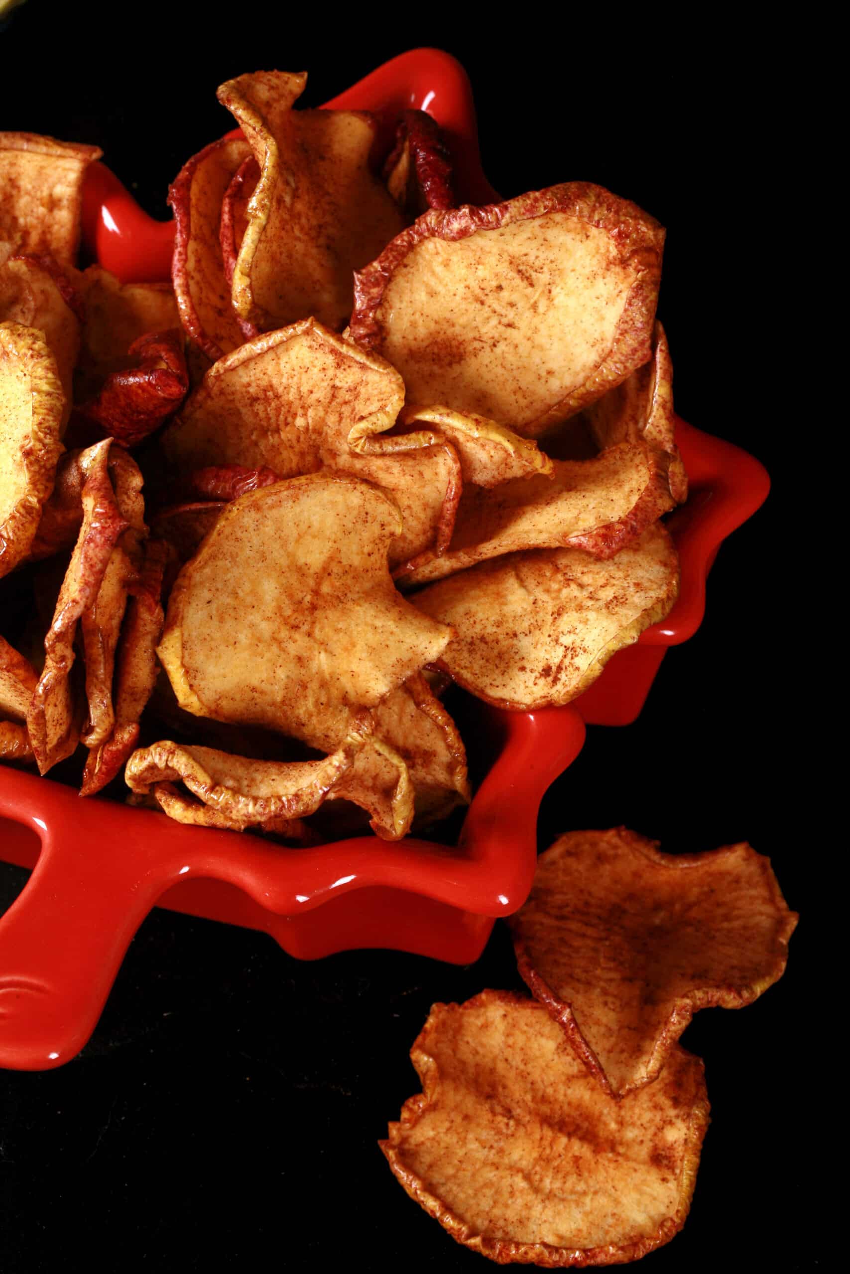
[[[432,120],[305,84],[219,88],[173,287],[76,268],[94,148],[0,134],[0,754],[398,840],[469,800],[449,680],[567,703],[675,600],[664,231],[586,182],[456,206]]]

